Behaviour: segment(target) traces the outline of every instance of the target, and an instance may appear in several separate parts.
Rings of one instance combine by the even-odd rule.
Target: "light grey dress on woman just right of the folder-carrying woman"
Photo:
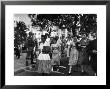
[[[60,65],[61,52],[60,52],[59,46],[57,44],[52,44],[51,46],[53,49],[51,64]]]

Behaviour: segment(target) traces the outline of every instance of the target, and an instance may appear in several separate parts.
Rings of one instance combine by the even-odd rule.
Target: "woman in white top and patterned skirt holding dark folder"
[[[48,75],[51,72],[50,45],[46,43],[46,35],[42,35],[41,40],[40,54],[38,56],[38,73]]]

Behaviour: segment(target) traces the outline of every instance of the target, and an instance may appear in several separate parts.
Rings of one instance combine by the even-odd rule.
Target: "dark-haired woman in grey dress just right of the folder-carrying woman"
[[[60,46],[56,38],[54,38],[54,44],[52,44],[51,47],[52,47],[52,61],[51,61],[52,71],[54,70],[58,71],[61,59],[61,52],[59,48]]]

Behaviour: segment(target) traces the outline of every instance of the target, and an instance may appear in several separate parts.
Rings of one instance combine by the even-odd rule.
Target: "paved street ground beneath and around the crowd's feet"
[[[20,59],[15,57],[14,59],[14,75],[15,76],[42,76],[42,74],[38,73],[36,70],[29,70],[29,67],[25,66],[25,57],[26,53],[22,53]],[[68,58],[62,57],[59,70],[52,71],[48,75],[44,76],[70,76],[68,75],[69,66],[68,66]],[[80,67],[72,68],[71,76],[87,76],[87,73],[81,73]]]

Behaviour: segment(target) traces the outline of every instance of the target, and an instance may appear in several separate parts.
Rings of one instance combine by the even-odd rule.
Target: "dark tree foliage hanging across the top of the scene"
[[[68,29],[75,35],[76,29],[80,33],[97,31],[96,14],[29,14],[32,26],[40,26],[42,29],[50,25],[59,26],[60,29]]]

